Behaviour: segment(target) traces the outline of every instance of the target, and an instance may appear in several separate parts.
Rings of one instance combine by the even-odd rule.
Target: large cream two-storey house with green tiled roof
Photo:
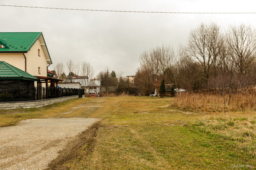
[[[59,79],[48,76],[52,60],[42,32],[0,32],[0,61],[38,78],[35,86],[58,84]]]

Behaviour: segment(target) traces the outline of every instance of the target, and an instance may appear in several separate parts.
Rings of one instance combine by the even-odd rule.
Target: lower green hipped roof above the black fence
[[[38,78],[18,69],[5,61],[0,62],[0,80],[2,79],[25,79],[37,81]]]

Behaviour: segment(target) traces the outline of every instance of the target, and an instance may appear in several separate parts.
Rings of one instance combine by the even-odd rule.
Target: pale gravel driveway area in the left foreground
[[[97,118],[28,119],[0,128],[0,169],[45,169]]]

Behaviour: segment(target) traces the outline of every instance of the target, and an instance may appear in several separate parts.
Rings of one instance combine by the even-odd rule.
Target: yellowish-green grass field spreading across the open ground
[[[74,99],[0,111],[0,126],[32,118],[102,118],[96,135],[62,165],[64,169],[256,168],[254,111],[191,112],[175,108],[173,100]],[[102,107],[94,107],[96,103]]]

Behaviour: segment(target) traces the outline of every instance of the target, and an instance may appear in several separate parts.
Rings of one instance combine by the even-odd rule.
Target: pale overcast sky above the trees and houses
[[[1,5],[156,12],[256,12],[254,0],[0,0]],[[42,32],[53,64],[90,62],[135,74],[140,53],[162,42],[186,43],[201,22],[256,27],[256,14],[161,14],[0,6],[0,32]]]

